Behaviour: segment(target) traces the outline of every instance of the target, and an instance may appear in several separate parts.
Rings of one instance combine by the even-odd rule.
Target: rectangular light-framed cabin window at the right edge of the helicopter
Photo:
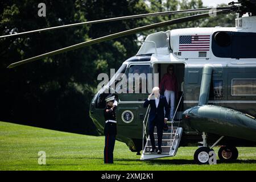
[[[256,79],[233,79],[232,96],[255,96]]]

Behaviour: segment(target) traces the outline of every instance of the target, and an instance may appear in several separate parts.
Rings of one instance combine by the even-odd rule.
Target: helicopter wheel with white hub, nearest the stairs
[[[209,164],[209,152],[213,151],[209,147],[197,148],[194,154],[194,160],[197,164]]]

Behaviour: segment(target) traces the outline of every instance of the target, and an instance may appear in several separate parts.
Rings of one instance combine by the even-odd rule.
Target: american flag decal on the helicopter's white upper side
[[[179,51],[209,51],[210,35],[180,35]]]

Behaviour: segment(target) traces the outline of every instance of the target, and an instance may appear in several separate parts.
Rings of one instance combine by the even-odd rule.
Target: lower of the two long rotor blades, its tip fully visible
[[[229,13],[229,12],[230,12],[230,10],[220,10],[220,11],[213,11],[211,13],[224,14],[224,13]],[[39,56],[31,57],[31,58],[26,59],[26,60],[18,61],[16,63],[10,64],[7,68],[14,68],[18,65],[22,65],[22,64],[29,63],[31,61],[39,60],[39,59],[42,59],[44,57],[57,55],[57,54],[62,53],[62,52],[71,51],[73,49],[77,49],[77,48],[81,48],[81,47],[85,47],[85,46],[91,46],[93,44],[104,42],[106,40],[120,38],[122,36],[135,34],[135,33],[141,32],[141,31],[145,31],[145,30],[151,30],[153,28],[158,28],[158,27],[163,27],[163,26],[170,26],[171,24],[177,24],[177,23],[188,22],[188,21],[191,21],[191,20],[207,18],[208,16],[209,16],[209,13],[186,16],[184,18],[177,18],[177,19],[173,19],[173,20],[167,20],[165,22],[150,24],[150,25],[143,26],[143,27],[133,28],[131,30],[117,32],[115,34],[106,35],[106,36],[103,36],[103,37],[100,37],[100,38],[96,38],[96,39],[93,39],[93,40],[89,40],[89,41],[86,41],[86,42],[75,44],[73,46],[57,49],[56,51],[44,53],[44,54],[39,55]]]

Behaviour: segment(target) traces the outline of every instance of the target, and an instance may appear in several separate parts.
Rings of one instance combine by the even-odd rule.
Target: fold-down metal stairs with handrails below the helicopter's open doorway
[[[182,97],[182,96],[181,96]],[[180,98],[181,101],[181,98]],[[180,104],[180,102],[179,102]],[[179,106],[178,104],[178,106]],[[178,108],[178,107],[177,107]],[[150,106],[147,108],[146,115],[144,117],[143,121],[143,153],[141,156],[141,160],[149,160],[149,159],[156,159],[156,158],[164,158],[164,157],[170,157],[170,156],[175,156],[177,149],[179,148],[179,143],[181,140],[181,135],[182,135],[182,127],[174,127],[174,119],[172,121],[168,121],[168,130],[163,131],[163,138],[162,138],[162,153],[157,154],[157,153],[151,153],[150,150],[152,148],[151,141],[149,135],[147,135],[147,122],[148,122],[148,115],[150,111]],[[177,109],[176,109],[177,111]],[[175,111],[175,114],[176,114]],[[174,117],[175,117],[174,114]],[[144,140],[146,140],[146,144],[144,145]],[[155,146],[158,146],[158,135],[156,133],[156,127],[154,129],[154,138],[155,138]]]

